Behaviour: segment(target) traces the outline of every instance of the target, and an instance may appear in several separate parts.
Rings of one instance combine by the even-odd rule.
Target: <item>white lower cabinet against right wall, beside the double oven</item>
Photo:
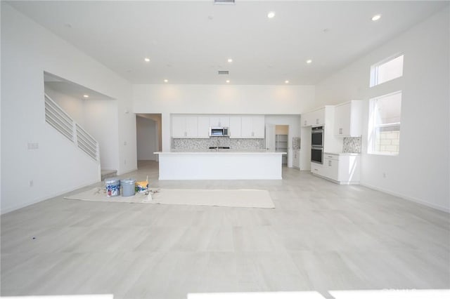
[[[341,185],[357,185],[360,180],[359,154],[323,154],[323,164],[311,163],[311,173]]]

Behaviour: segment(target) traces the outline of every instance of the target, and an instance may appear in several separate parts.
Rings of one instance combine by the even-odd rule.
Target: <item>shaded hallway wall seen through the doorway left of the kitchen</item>
[[[152,119],[136,117],[138,160],[158,159],[158,125]]]

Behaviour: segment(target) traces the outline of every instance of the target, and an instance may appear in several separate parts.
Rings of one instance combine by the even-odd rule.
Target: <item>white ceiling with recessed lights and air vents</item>
[[[132,84],[316,84],[448,1],[9,1]],[[267,18],[274,11],[275,18]],[[378,22],[371,20],[381,14]],[[150,62],[144,62],[144,58]],[[227,62],[233,58],[233,62]],[[308,65],[306,60],[313,62]],[[229,70],[229,75],[218,75]]]

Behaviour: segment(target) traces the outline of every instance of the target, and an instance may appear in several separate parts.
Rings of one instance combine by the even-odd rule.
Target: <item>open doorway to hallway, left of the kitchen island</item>
[[[161,114],[136,114],[136,139],[138,161],[158,161],[154,153],[162,151]]]

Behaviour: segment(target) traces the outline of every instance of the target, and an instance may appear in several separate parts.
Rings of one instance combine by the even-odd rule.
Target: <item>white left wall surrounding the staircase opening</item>
[[[1,213],[100,180],[98,167],[46,125],[44,71],[117,99],[115,169],[136,168],[136,120],[125,113],[131,84],[1,1]]]

